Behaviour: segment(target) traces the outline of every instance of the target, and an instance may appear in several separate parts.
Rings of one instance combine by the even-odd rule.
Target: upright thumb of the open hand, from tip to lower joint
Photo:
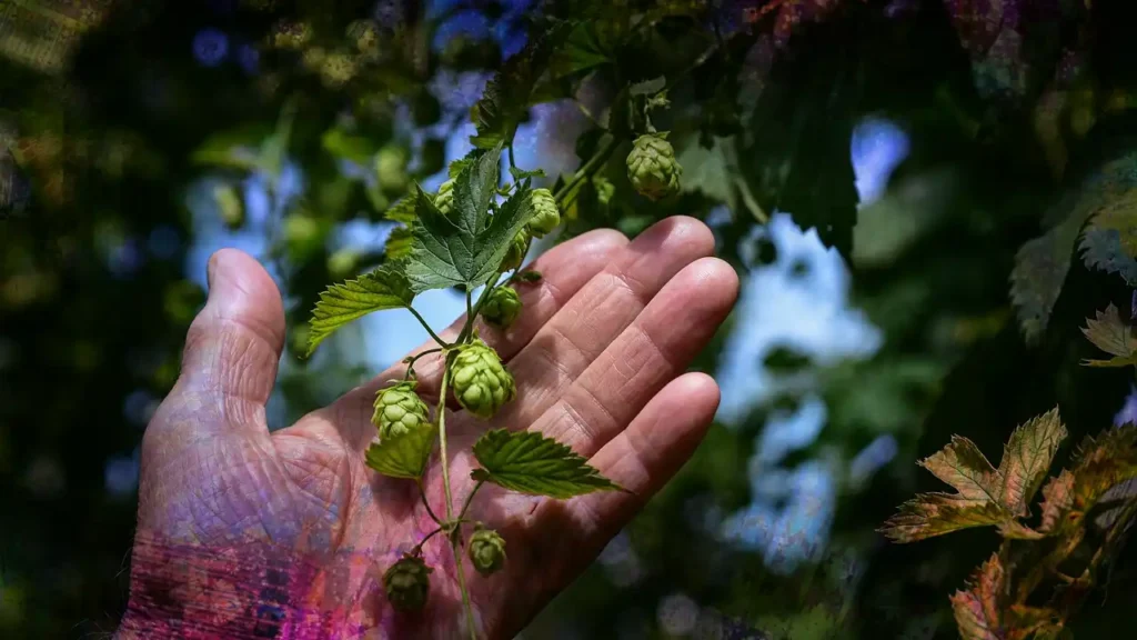
[[[209,298],[190,325],[181,392],[217,400],[231,422],[249,424],[268,401],[284,345],[280,289],[252,256],[225,248],[207,266]]]

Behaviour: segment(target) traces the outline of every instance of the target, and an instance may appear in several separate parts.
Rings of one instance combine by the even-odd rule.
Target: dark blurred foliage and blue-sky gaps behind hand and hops
[[[0,634],[115,627],[138,444],[213,251],[285,295],[284,426],[425,338],[392,312],[299,359],[412,181],[515,125],[549,186],[596,158],[554,241],[694,215],[744,281],[696,363],[723,388],[706,442],[524,637],[955,637],[947,597],[996,536],[886,543],[941,489],[914,461],[952,434],[997,457],[1054,404],[1069,442],[1135,407],[1127,369],[1078,366],[1085,318],[1137,284],[1129,5],[0,3]],[[683,189],[652,204],[623,158],[629,85],[659,76]],[[435,293],[416,306],[447,322]],[[1132,556],[1079,638],[1123,637]]]

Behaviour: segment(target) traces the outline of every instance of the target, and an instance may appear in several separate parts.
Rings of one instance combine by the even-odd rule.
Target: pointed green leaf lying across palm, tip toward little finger
[[[471,474],[511,491],[567,499],[594,491],[619,491],[582,456],[538,432],[493,429],[474,443],[481,469]]]

